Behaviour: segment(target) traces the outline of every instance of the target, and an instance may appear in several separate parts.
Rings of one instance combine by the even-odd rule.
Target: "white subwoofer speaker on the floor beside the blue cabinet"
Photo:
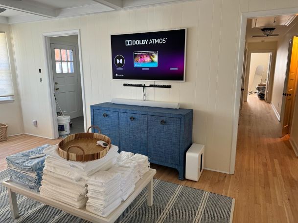
[[[185,178],[199,181],[204,169],[205,145],[193,143],[186,152]]]

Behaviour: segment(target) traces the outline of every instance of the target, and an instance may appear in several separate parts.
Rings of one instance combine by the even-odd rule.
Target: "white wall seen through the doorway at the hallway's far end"
[[[255,70],[259,65],[261,65],[263,67],[263,73],[262,73],[262,78],[261,78],[260,82],[265,81],[265,79],[267,78],[269,57],[270,57],[270,53],[252,53],[248,92],[256,91],[256,86],[252,86],[252,83],[253,83],[253,79],[254,79],[254,75],[255,75]]]

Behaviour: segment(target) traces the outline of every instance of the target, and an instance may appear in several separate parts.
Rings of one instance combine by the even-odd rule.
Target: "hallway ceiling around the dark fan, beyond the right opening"
[[[296,15],[290,15],[290,16],[296,16]],[[287,16],[289,18],[290,16]],[[291,23],[288,25],[281,25],[282,23],[286,22],[285,16],[276,16],[275,18],[275,24],[273,23],[275,17],[262,17],[262,18],[254,18],[254,19],[248,19],[247,20],[247,26],[246,26],[246,41],[247,42],[270,42],[270,41],[278,41],[280,38],[282,38],[297,22],[298,22],[298,16],[292,20]],[[255,21],[256,20],[256,21]],[[257,24],[258,27],[252,28],[253,24]],[[267,27],[274,27],[275,30],[273,34],[279,34],[277,37],[255,37],[252,38],[252,36],[256,35],[263,35],[261,29]]]

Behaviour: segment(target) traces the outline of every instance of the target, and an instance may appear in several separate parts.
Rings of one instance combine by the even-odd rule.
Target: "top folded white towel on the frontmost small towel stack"
[[[86,178],[86,183],[95,184],[98,186],[106,186],[110,182],[119,181],[120,183],[121,174],[120,173],[113,173],[108,171],[99,171]]]

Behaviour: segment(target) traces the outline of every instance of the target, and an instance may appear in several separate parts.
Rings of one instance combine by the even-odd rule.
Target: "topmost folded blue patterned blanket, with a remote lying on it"
[[[23,151],[21,153],[17,153],[11,156],[6,157],[6,162],[8,165],[12,165],[22,171],[26,172],[35,172],[36,174],[40,174],[40,170],[44,168],[44,162],[46,156],[29,159],[30,156],[39,155],[44,153],[44,149],[50,146],[49,144],[45,144],[34,149],[30,149],[28,151]]]

